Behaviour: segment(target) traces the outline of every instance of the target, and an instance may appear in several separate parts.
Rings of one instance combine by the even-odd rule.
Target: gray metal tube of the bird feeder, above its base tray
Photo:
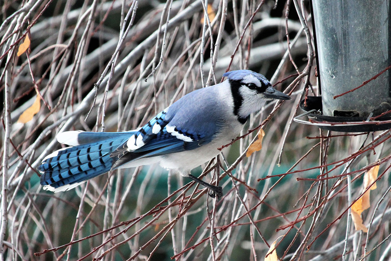
[[[313,0],[323,115],[368,117],[390,109],[390,72],[344,96],[390,60],[390,0]]]

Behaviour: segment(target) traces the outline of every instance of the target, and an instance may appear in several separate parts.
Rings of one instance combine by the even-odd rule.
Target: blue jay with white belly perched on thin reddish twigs
[[[158,163],[207,187],[210,196],[221,197],[220,186],[191,170],[217,156],[218,148],[236,138],[250,114],[267,101],[290,99],[251,70],[229,71],[223,77],[219,84],[184,95],[139,129],[57,134],[57,141],[70,147],[43,158],[37,168],[43,190],[68,191],[109,171]]]

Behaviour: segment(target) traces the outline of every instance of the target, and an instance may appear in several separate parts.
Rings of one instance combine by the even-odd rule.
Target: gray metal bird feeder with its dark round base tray
[[[331,131],[391,128],[390,1],[312,1],[322,96],[302,101],[309,120],[295,121]]]

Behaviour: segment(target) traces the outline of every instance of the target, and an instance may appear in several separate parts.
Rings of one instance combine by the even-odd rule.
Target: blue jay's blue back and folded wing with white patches
[[[223,117],[222,111],[210,111],[221,107],[205,95],[207,88],[185,95],[119,146],[110,155],[117,158],[112,170],[140,158],[190,151],[211,142]],[[158,132],[153,131],[155,124],[161,127]]]

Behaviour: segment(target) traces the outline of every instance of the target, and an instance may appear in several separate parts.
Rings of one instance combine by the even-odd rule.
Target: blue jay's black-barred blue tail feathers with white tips
[[[110,171],[114,158],[110,154],[124,144],[134,131],[83,132],[66,131],[57,135],[60,143],[74,146],[47,155],[38,167],[44,190],[60,192]]]

